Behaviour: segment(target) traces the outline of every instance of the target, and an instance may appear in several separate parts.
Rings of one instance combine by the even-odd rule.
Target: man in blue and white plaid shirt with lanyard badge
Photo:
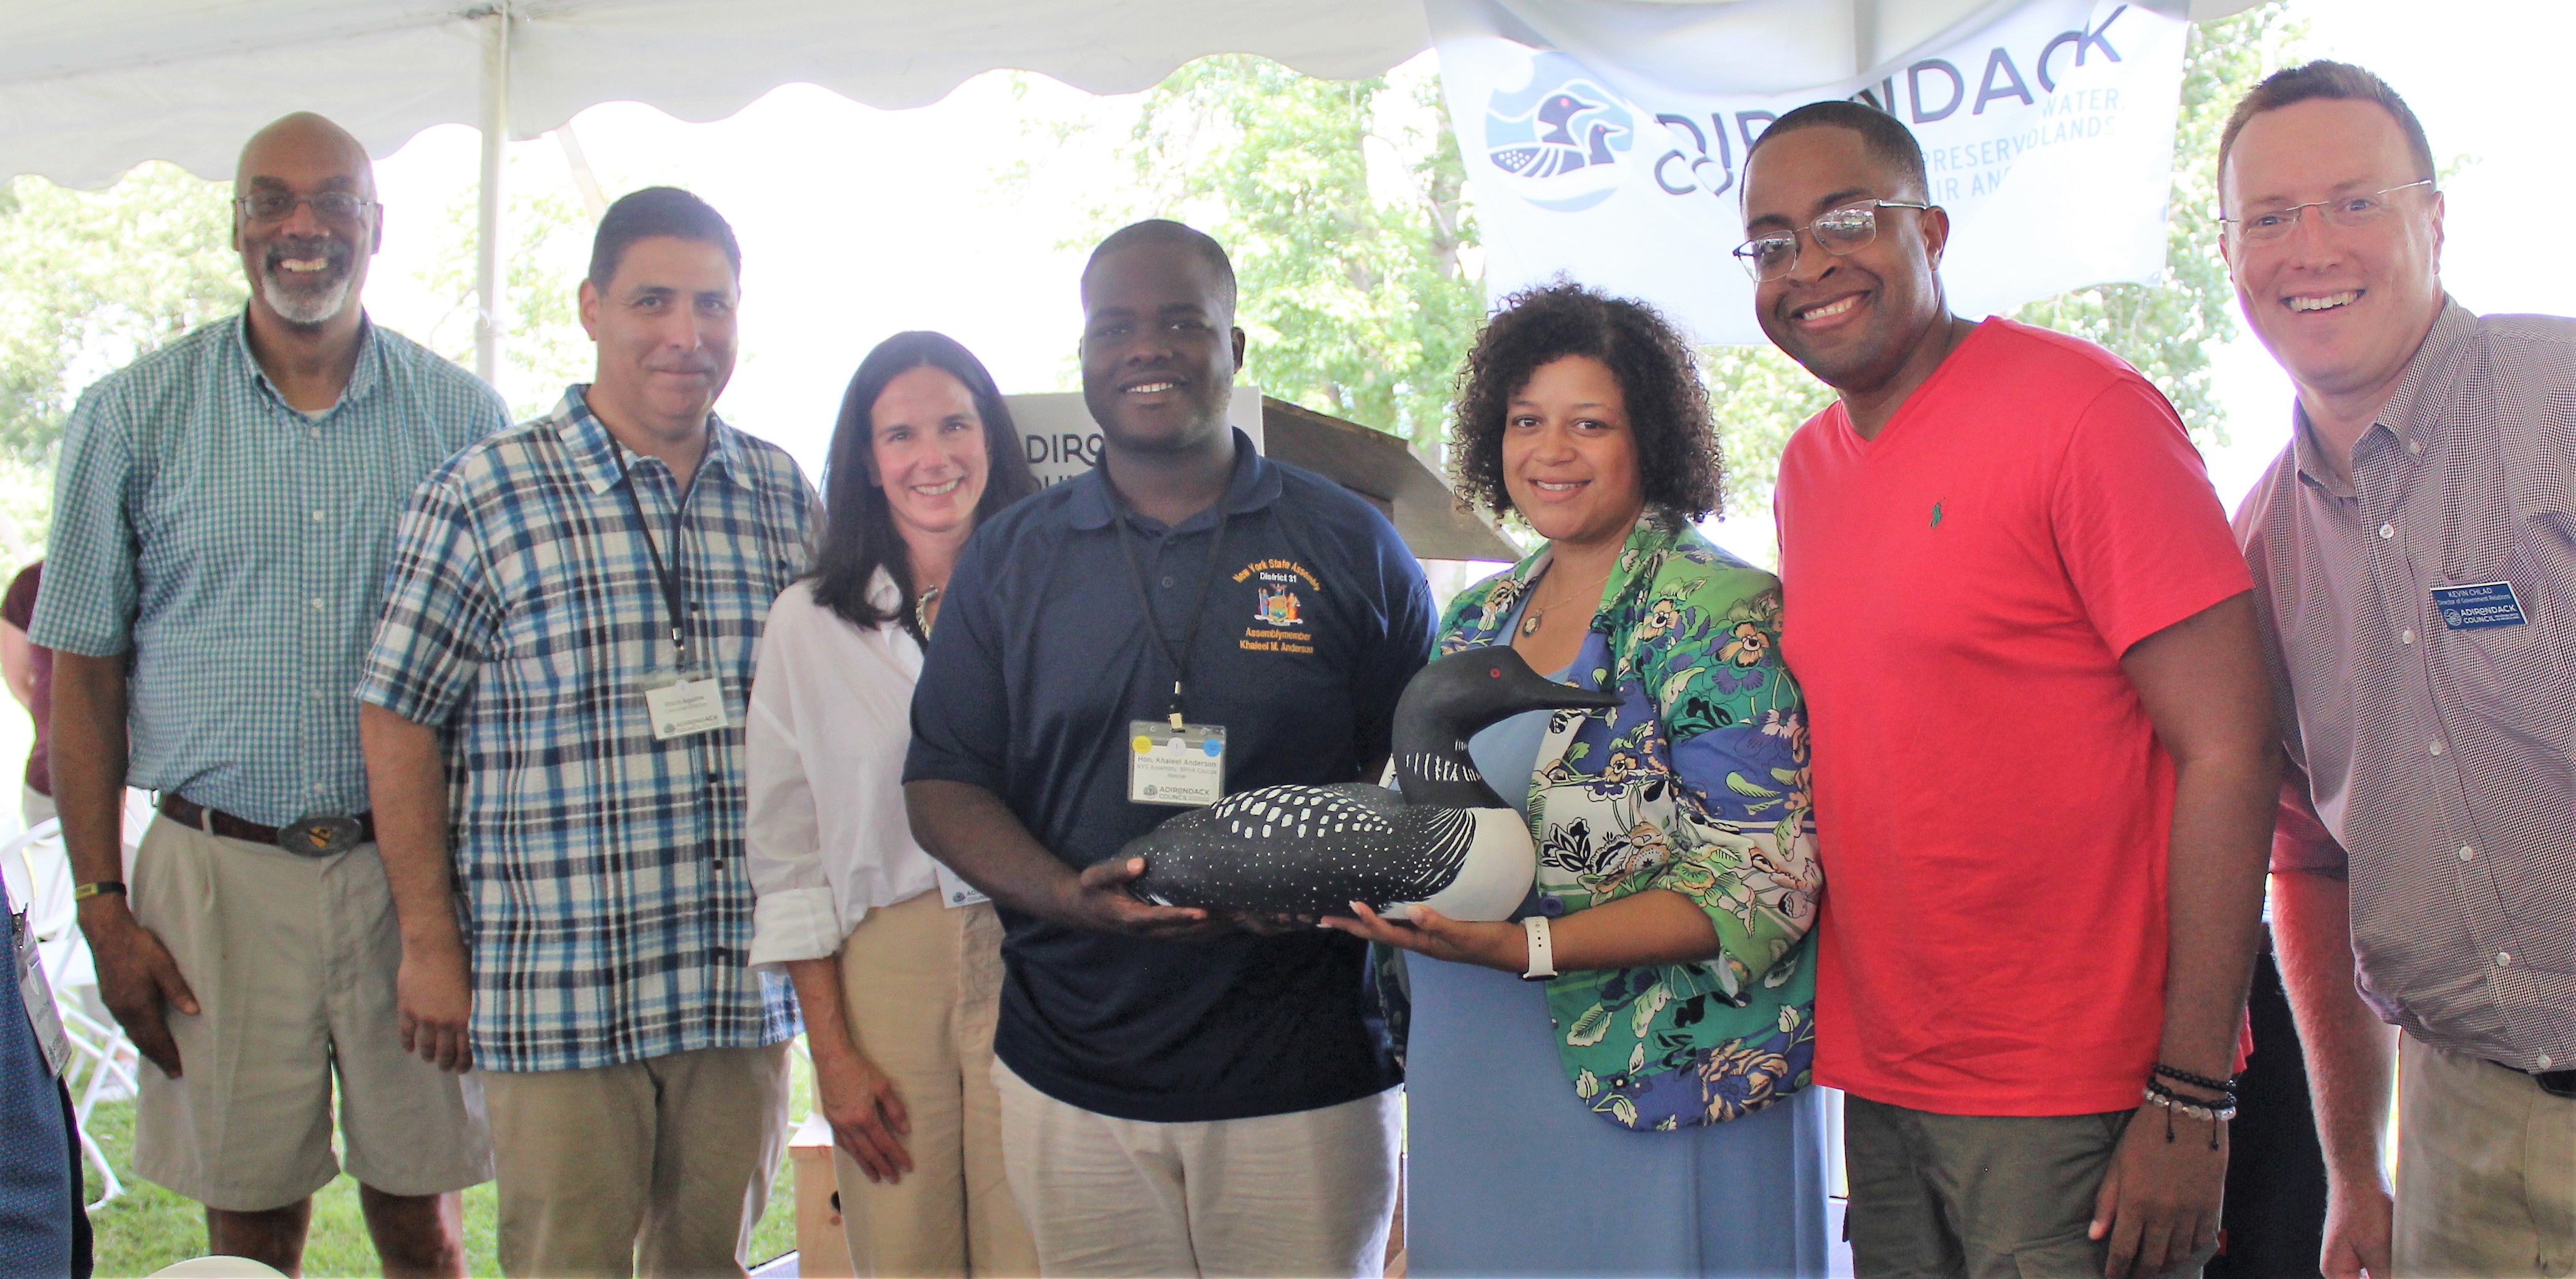
[[[420,485],[358,683],[404,1044],[482,1068],[507,1274],[739,1274],[786,1140],[742,722],[817,505],[714,415],[739,271],[685,191],[608,209],[595,382]]]

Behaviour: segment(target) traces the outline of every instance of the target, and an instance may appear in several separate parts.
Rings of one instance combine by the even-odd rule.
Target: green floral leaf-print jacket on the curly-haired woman
[[[1510,642],[1540,549],[1450,601],[1440,652]],[[1574,1096],[1636,1129],[1716,1124],[1808,1086],[1816,823],[1806,707],[1780,665],[1780,580],[1649,511],[1574,658],[1615,712],[1556,712],[1530,776],[1540,910],[1690,897],[1695,964],[1566,972],[1548,1021]],[[1504,779],[1494,779],[1502,784]]]

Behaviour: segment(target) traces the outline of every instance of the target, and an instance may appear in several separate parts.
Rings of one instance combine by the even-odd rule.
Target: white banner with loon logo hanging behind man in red
[[[1914,129],[1950,211],[1942,281],[1960,315],[2159,278],[2179,13],[1999,0],[1868,75],[1780,93],[1762,46],[1803,39],[1790,21],[1829,26],[1829,8],[1430,0],[1486,297],[1566,273],[1662,307],[1703,343],[1762,343],[1731,255],[1744,152],[1824,98],[1865,98]],[[1814,39],[1780,52],[1816,54]]]

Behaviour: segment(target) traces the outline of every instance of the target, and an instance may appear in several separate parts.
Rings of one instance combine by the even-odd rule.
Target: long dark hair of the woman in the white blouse
[[[984,361],[974,358],[945,333],[896,333],[876,343],[868,358],[850,374],[850,389],[840,397],[840,423],[832,428],[832,451],[824,456],[824,529],[822,549],[814,554],[814,598],[853,627],[902,624],[914,640],[927,640],[914,621],[920,593],[912,588],[912,557],[902,534],[894,531],[894,511],[886,490],[876,487],[873,413],[886,384],[912,369],[940,369],[966,384],[976,418],[984,418],[984,498],[974,503],[976,523],[994,511],[1038,493],[1038,477],[1020,451],[1020,428],[1010,423],[1010,405],[992,384]],[[902,603],[884,611],[868,603],[868,580],[884,567],[902,591]]]

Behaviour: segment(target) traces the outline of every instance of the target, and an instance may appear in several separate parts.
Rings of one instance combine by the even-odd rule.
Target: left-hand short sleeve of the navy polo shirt
[[[1007,794],[1010,701],[1002,691],[1002,624],[994,557],[1010,547],[976,534],[948,575],[940,624],[912,688],[912,750],[904,781],[963,781]]]

